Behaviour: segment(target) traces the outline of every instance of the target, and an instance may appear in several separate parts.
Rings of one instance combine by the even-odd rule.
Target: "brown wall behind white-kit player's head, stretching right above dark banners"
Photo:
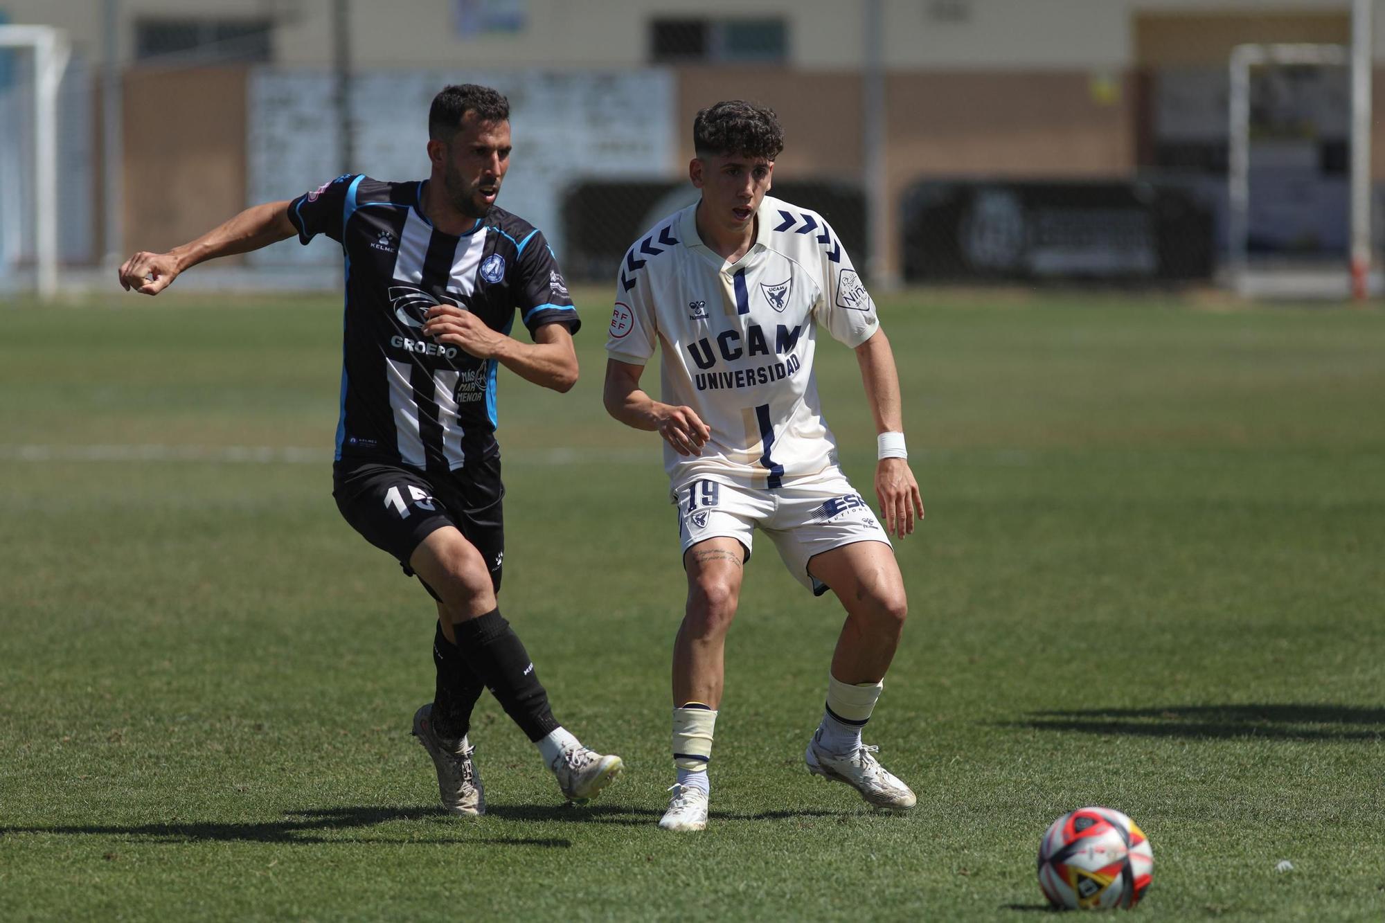
[[[751,97],[784,125],[780,177],[857,180],[863,170],[860,78],[683,68],[679,150],[691,157],[692,115],[717,100]],[[886,158],[891,226],[910,186],[927,177],[1127,177],[1134,172],[1133,80],[1115,98],[1094,94],[1086,72],[892,73]],[[897,261],[897,234],[886,259]]]

